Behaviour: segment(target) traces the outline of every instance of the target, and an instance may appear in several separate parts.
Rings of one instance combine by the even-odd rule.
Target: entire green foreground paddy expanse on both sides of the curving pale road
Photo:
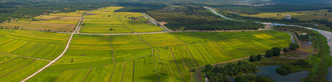
[[[70,37],[12,29],[0,32],[0,80],[6,81],[20,81],[45,66]],[[191,68],[264,53],[290,42],[289,34],[277,31],[74,34],[65,55],[28,82],[192,82]]]

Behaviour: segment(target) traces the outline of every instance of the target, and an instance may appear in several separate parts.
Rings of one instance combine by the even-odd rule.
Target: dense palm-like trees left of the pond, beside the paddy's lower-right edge
[[[206,65],[203,72],[206,72],[206,76],[211,82],[227,82],[226,75],[239,75],[243,72],[257,72],[256,65],[253,65],[249,61],[238,61],[237,63],[228,63],[225,66],[211,66]]]

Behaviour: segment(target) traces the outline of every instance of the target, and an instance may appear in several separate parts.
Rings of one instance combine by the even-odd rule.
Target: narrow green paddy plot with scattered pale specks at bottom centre
[[[154,48],[153,52],[160,81],[183,81],[169,47]]]

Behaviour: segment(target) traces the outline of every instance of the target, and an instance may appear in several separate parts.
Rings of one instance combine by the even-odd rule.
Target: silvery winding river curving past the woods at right
[[[217,14],[223,18],[226,18],[226,19],[230,19],[230,20],[236,20],[236,19],[232,19],[232,18],[227,18],[225,16],[223,16],[222,14],[218,14],[216,11],[214,11],[213,9],[211,8],[207,8],[207,7],[204,7],[206,9],[209,9],[211,10],[214,14]],[[238,21],[244,21],[244,20],[238,20]],[[327,44],[330,46],[330,55],[332,56],[332,33],[329,32],[329,31],[323,31],[323,30],[319,30],[319,29],[314,29],[314,28],[309,28],[309,27],[302,27],[302,26],[297,26],[297,25],[287,25],[287,24],[280,24],[280,23],[267,23],[267,22],[257,22],[257,23],[262,23],[262,24],[272,24],[272,25],[275,25],[275,26],[296,26],[296,27],[301,27],[301,28],[306,28],[306,29],[311,29],[311,30],[314,30],[314,31],[317,31],[319,32],[319,34],[322,34],[323,36],[325,36],[327,38]],[[328,72],[327,72],[327,76],[326,76],[326,79],[327,79],[327,82],[332,82],[332,67],[329,67],[328,68]]]

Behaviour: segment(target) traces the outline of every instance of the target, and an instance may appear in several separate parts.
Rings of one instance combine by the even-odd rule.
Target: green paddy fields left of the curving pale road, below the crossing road
[[[69,34],[0,29],[0,80],[17,82],[33,74],[64,49]]]

